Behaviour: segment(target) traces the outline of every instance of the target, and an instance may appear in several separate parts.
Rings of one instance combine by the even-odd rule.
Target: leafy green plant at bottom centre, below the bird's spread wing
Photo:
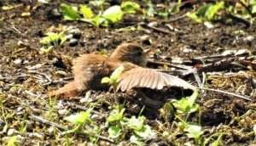
[[[154,136],[151,127],[145,124],[146,118],[142,115],[124,117],[125,109],[122,105],[115,106],[107,118],[109,138],[119,142],[131,132],[130,142],[143,145],[143,138]]]

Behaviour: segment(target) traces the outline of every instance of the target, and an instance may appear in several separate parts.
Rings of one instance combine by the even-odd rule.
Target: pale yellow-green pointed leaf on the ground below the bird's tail
[[[75,115],[69,115],[66,118],[64,118],[64,120],[72,122],[75,125],[79,125],[84,122],[90,123],[91,122],[91,119],[90,119],[91,110],[92,110],[92,108],[87,110],[86,112],[82,111]]]

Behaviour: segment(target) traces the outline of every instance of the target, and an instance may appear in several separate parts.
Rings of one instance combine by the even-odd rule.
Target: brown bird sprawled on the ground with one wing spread
[[[78,96],[80,92],[85,90],[106,88],[108,85],[101,83],[102,78],[111,75],[113,70],[120,65],[123,65],[125,70],[118,78],[117,88],[123,92],[137,87],[162,89],[166,86],[195,90],[194,86],[176,76],[146,69],[147,60],[146,51],[134,43],[120,45],[110,57],[100,54],[84,54],[74,61],[74,81],[49,93],[49,95],[71,98]]]

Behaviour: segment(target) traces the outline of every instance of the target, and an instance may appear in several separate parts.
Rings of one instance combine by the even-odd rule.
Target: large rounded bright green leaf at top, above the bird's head
[[[116,23],[122,19],[123,12],[120,6],[112,6],[103,12],[102,17],[111,21],[112,23]]]

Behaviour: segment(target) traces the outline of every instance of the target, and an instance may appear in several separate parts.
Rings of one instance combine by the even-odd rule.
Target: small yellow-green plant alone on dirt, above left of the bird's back
[[[63,35],[63,33],[53,33],[49,32],[45,37],[40,41],[41,44],[44,45],[43,48],[40,48],[44,53],[48,53],[52,48],[61,48],[64,42],[66,42],[67,37]]]

